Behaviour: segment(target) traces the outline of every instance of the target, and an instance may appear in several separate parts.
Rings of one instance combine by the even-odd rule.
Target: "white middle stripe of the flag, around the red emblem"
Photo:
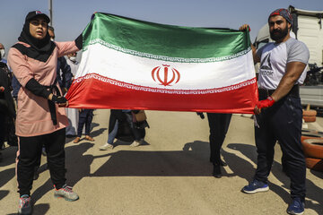
[[[180,73],[178,83],[163,86],[154,82],[153,68],[161,66],[160,78],[164,80],[162,64],[169,64]],[[139,86],[170,90],[205,90],[231,86],[255,77],[252,53],[231,60],[213,63],[172,63],[132,56],[100,44],[89,46],[83,52],[76,77],[98,73],[104,77]],[[169,69],[169,77],[172,72]],[[154,76],[157,81],[157,77]],[[170,81],[170,78],[168,79]],[[177,77],[176,77],[177,78]],[[176,81],[176,80],[175,80]]]

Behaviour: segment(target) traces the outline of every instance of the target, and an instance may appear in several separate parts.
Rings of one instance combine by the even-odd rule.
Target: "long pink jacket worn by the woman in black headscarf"
[[[19,42],[26,47],[28,44]],[[37,136],[53,133],[68,125],[65,107],[57,106],[57,125],[51,120],[48,99],[36,96],[25,88],[26,83],[34,78],[42,85],[52,85],[57,77],[57,57],[65,56],[79,49],[74,41],[56,42],[56,47],[47,62],[40,62],[12,47],[8,54],[8,64],[14,76],[22,84],[18,92],[18,111],[16,119],[17,136]],[[60,90],[57,83],[57,88]]]

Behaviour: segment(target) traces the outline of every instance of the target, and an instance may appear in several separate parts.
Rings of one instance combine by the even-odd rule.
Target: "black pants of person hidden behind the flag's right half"
[[[231,116],[231,114],[207,113],[210,126],[210,160],[214,165],[220,164],[220,150],[229,129]]]

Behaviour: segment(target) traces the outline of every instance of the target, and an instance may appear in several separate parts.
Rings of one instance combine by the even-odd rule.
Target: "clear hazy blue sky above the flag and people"
[[[48,0],[0,0],[0,43],[6,53],[17,41],[27,13],[48,11]],[[162,24],[239,29],[248,23],[252,42],[269,13],[292,5],[323,11],[323,0],[52,0],[57,41],[77,38],[94,12],[112,13]],[[5,56],[6,57],[6,56]],[[4,57],[4,58],[5,58]]]

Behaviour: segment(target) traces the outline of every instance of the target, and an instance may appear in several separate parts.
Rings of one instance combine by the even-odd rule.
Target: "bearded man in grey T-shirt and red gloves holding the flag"
[[[244,193],[269,190],[267,176],[274,160],[274,146],[278,141],[285,158],[284,166],[291,178],[292,202],[289,214],[304,212],[306,167],[301,149],[301,99],[299,84],[306,76],[309,49],[301,41],[292,39],[292,16],[286,9],[278,9],[269,15],[269,31],[274,43],[268,43],[256,51],[252,47],[255,63],[259,67],[259,101],[256,114],[255,139],[258,151],[258,167],[254,180],[242,188]],[[240,30],[248,30],[245,24]]]

